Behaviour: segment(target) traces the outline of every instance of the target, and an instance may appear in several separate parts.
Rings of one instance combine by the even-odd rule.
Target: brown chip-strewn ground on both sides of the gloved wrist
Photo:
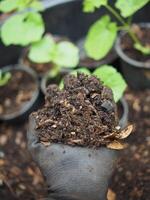
[[[150,90],[128,91],[135,125],[109,185],[109,200],[148,200],[150,185]],[[43,200],[45,185],[27,151],[27,123],[0,123],[0,199]]]

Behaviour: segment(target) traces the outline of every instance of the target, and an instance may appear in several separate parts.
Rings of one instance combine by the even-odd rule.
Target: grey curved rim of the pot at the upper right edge
[[[141,27],[148,27],[150,28],[150,23],[148,22],[145,22],[145,23],[139,23],[138,25],[140,25]],[[117,40],[116,40],[116,43],[115,43],[115,50],[117,52],[117,54],[121,57],[122,60],[124,60],[125,62],[129,63],[130,65],[134,66],[134,67],[139,67],[139,68],[150,68],[150,62],[140,62],[140,61],[137,61],[137,60],[134,60],[132,58],[130,58],[129,56],[127,56],[122,48],[121,48],[121,39],[122,37],[126,34],[127,32],[126,31],[121,31]]]

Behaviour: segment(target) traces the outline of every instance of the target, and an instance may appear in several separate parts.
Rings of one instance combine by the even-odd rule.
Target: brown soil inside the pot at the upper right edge
[[[150,28],[141,28],[134,25],[132,29],[143,45],[150,46]],[[150,55],[142,54],[140,51],[136,50],[133,45],[131,37],[128,34],[125,34],[121,40],[121,48],[124,53],[134,60],[150,63]]]

